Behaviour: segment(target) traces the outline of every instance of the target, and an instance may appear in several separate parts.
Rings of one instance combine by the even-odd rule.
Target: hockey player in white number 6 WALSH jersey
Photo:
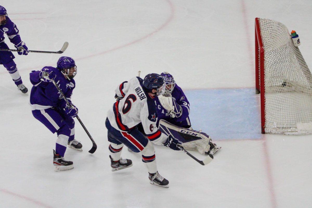
[[[150,183],[168,188],[169,181],[157,171],[155,150],[151,143],[173,150],[179,150],[177,144],[181,144],[171,135],[161,133],[156,126],[157,111],[153,98],[162,94],[164,87],[163,78],[154,73],[146,75],[144,80],[134,77],[129,82],[121,83],[115,90],[117,102],[108,111],[105,125],[110,141],[112,171],[132,166],[131,160],[121,159],[121,150],[126,145],[132,151],[142,153]],[[147,137],[135,128],[140,123]]]

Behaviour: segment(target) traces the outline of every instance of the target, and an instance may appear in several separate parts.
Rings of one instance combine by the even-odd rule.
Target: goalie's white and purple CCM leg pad
[[[159,121],[158,129],[162,133],[166,135],[170,134],[174,138],[181,141],[183,143],[183,148],[187,150],[198,151],[203,155],[205,154],[205,152],[209,152],[210,150],[209,141],[211,139],[204,132],[178,127],[165,120]]]

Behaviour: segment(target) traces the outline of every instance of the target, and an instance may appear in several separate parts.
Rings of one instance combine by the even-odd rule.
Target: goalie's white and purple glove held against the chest
[[[177,118],[182,115],[182,107],[175,101],[173,97],[158,96],[160,104],[168,111],[172,118]]]

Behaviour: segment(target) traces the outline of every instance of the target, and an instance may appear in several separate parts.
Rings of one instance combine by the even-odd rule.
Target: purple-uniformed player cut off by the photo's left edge
[[[28,54],[28,48],[25,43],[22,42],[17,26],[7,16],[7,10],[0,6],[0,48],[9,49],[7,44],[4,42],[4,34],[7,34],[7,37],[14,44],[14,46],[21,50],[18,52],[18,55]],[[15,57],[12,52],[0,51],[0,64],[7,69],[18,90],[22,91],[22,93],[26,93],[28,89],[23,84],[22,78],[17,71],[16,64],[13,61],[14,58]]]

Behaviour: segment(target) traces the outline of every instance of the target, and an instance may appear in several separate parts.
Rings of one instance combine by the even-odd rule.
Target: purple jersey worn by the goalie
[[[171,118],[168,114],[168,111],[163,108],[163,106],[160,104],[158,97],[157,97],[155,98],[155,104],[156,104],[156,109],[157,109],[158,122],[160,121],[160,119],[163,119],[176,126],[180,126],[180,127],[191,126],[191,122],[189,118],[190,103],[188,102],[188,99],[186,98],[181,87],[179,87],[176,84],[175,87],[173,88],[171,96],[181,106],[182,115],[179,116],[178,118]],[[158,123],[157,123],[157,126],[158,126]]]

